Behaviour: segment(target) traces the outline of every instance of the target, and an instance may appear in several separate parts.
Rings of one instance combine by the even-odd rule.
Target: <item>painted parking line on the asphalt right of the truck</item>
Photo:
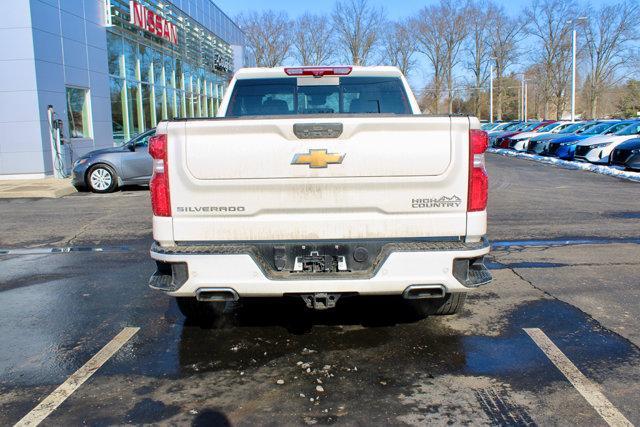
[[[529,334],[536,345],[540,347],[540,350],[547,355],[549,360],[556,365],[560,372],[573,384],[575,389],[578,390],[582,397],[600,414],[607,424],[616,427],[633,427],[633,424],[602,394],[598,386],[589,381],[542,330],[538,328],[524,328],[524,331]]]

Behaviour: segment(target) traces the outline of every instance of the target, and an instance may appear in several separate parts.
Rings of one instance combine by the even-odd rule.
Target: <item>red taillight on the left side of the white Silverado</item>
[[[149,138],[149,154],[153,158],[153,175],[149,182],[153,214],[155,216],[171,216],[167,135],[156,135]]]

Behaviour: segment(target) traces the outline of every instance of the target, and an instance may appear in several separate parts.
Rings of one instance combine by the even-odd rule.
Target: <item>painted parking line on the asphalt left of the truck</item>
[[[74,391],[105,364],[140,328],[124,328],[107,345],[95,354],[80,369],[25,415],[16,426],[37,426],[62,404]]]

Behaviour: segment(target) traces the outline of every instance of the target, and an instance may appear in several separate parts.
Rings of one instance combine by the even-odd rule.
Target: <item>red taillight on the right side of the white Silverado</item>
[[[484,152],[489,148],[489,136],[485,131],[469,131],[469,203],[468,212],[483,211],[487,208],[489,177],[484,168]]]

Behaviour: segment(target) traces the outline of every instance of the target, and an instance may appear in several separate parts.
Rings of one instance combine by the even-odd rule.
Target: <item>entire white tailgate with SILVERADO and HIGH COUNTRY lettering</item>
[[[463,236],[469,126],[371,115],[169,122],[174,240]]]

